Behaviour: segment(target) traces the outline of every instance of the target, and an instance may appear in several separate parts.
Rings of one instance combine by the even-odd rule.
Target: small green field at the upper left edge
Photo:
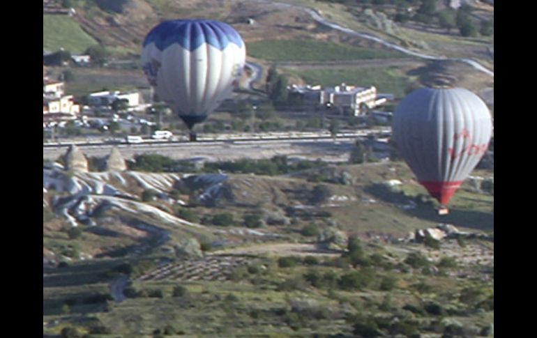
[[[43,49],[55,52],[63,47],[72,53],[82,53],[97,41],[67,15],[43,15]]]

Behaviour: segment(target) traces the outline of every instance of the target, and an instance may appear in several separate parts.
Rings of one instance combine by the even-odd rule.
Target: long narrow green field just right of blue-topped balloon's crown
[[[404,57],[399,52],[315,40],[263,40],[247,43],[248,55],[267,61],[331,61]]]

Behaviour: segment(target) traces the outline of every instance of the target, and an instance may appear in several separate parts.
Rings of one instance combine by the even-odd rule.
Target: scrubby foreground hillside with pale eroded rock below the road
[[[390,187],[395,180],[402,185]],[[423,194],[400,162],[286,176],[44,167],[43,332],[351,337],[394,316],[409,326],[377,330],[439,337],[455,323],[485,332],[494,318],[493,197],[469,180],[439,218]],[[438,222],[455,224],[459,237],[437,249],[405,239],[425,228],[437,236]],[[352,234],[358,256],[345,253]]]

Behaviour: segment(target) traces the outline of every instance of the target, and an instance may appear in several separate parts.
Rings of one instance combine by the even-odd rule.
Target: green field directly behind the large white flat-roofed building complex
[[[405,95],[405,89],[414,82],[415,77],[406,75],[397,67],[389,68],[324,68],[308,70],[286,70],[298,75],[308,84],[335,86],[345,82],[356,86],[375,86],[379,93],[393,93],[396,98]]]

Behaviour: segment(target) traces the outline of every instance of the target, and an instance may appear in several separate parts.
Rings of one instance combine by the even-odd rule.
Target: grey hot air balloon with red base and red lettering
[[[487,151],[492,119],[462,88],[421,88],[395,109],[393,139],[418,182],[441,204],[439,214]]]

